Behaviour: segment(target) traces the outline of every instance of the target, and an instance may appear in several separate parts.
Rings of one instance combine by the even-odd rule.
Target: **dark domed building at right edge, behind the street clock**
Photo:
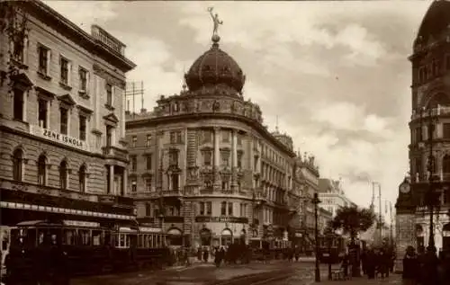
[[[410,62],[410,177],[401,183],[396,204],[397,256],[402,256],[408,245],[430,245],[431,205],[437,252],[450,250],[449,1],[435,1],[428,8]]]

